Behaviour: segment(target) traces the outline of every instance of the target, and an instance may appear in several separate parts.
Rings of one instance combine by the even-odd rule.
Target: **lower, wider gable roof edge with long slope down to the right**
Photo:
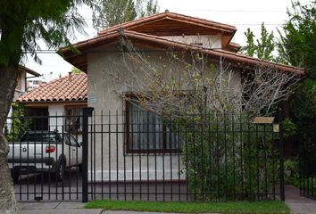
[[[284,64],[279,64],[275,62],[264,61],[258,58],[246,56],[245,54],[234,53],[219,49],[205,48],[200,45],[189,45],[177,41],[171,41],[169,39],[163,37],[157,37],[152,35],[147,35],[143,33],[138,33],[130,30],[121,30],[118,31],[110,31],[108,33],[104,33],[99,35],[98,37],[91,38],[73,46],[81,53],[76,54],[72,53],[68,48],[62,48],[60,53],[64,55],[64,59],[68,62],[71,62],[74,66],[77,66],[80,70],[87,71],[87,51],[93,48],[96,48],[100,45],[113,45],[115,43],[120,42],[121,37],[128,37],[133,42],[146,44],[147,47],[161,50],[167,50],[168,48],[173,49],[181,49],[181,50],[191,50],[191,51],[199,51],[202,53],[206,53],[217,59],[224,59],[226,62],[234,62],[240,66],[273,66],[277,70],[282,70],[286,72],[295,72],[300,75],[304,75],[304,69],[297,68],[293,66],[288,66]],[[237,46],[237,45],[235,45]]]

